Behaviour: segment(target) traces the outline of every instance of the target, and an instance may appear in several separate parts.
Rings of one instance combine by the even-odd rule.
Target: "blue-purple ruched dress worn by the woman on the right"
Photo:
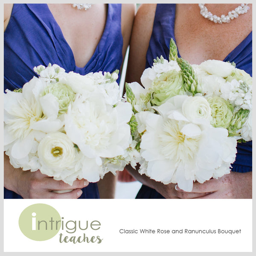
[[[146,67],[151,67],[154,59],[163,55],[169,59],[170,39],[175,41],[175,4],[157,4],[154,26],[146,55]],[[178,52],[178,57],[180,56]],[[252,32],[223,61],[235,62],[236,67],[252,76]],[[237,145],[236,161],[232,164],[233,172],[252,171],[252,141]],[[142,185],[136,198],[163,199],[155,189]]]

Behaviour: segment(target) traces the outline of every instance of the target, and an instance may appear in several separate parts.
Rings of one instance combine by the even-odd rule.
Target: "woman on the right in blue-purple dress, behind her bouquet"
[[[238,4],[206,4],[221,17]],[[252,6],[230,21],[214,23],[204,18],[198,4],[143,4],[134,20],[128,60],[127,82],[137,81],[155,58],[169,58],[169,43],[177,44],[178,57],[191,64],[207,59],[235,62],[252,76]],[[242,6],[241,6],[242,7]],[[163,185],[130,170],[143,183],[137,198],[252,198],[252,142],[239,143],[230,174],[194,183],[192,192],[175,184]]]

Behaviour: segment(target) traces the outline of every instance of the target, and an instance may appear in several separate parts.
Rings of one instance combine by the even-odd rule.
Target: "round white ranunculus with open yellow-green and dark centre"
[[[66,134],[54,132],[47,134],[38,145],[41,172],[72,185],[77,151]],[[74,179],[70,180],[70,176]]]

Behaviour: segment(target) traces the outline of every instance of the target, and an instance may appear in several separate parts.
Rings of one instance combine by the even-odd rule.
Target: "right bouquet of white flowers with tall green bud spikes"
[[[224,61],[190,65],[171,39],[169,61],[154,60],[141,83],[125,85],[140,174],[189,192],[230,173],[237,143],[252,140],[250,75]]]

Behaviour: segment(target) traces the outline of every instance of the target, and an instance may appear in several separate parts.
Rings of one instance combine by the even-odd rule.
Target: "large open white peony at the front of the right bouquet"
[[[186,121],[185,116],[170,118],[173,110],[168,111],[165,104],[173,106],[164,103],[159,107],[161,115],[148,113],[144,119],[146,131],[140,153],[146,162],[142,172],[147,163],[146,175],[165,184],[177,183],[185,191],[192,190],[194,180],[202,183],[220,176],[221,170],[229,172],[221,166],[230,166],[235,160],[236,139],[228,137],[223,128],[197,125]]]

